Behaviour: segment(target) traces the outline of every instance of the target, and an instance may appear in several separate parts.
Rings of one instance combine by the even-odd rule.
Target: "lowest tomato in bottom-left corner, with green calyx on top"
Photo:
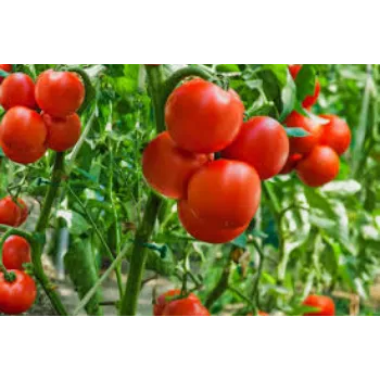
[[[34,279],[21,270],[11,270],[15,281],[8,282],[0,273],[0,312],[18,315],[27,312],[36,301],[37,288]]]

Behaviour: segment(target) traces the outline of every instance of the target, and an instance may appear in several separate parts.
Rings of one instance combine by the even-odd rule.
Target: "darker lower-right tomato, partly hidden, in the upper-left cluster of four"
[[[42,113],[41,116],[48,128],[48,148],[55,152],[64,152],[78,142],[81,122],[77,114],[66,117],[53,117]]]

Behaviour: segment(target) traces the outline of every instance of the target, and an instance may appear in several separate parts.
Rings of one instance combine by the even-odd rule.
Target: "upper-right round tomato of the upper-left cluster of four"
[[[36,100],[47,114],[66,117],[84,103],[85,86],[74,73],[48,69],[37,79]]]

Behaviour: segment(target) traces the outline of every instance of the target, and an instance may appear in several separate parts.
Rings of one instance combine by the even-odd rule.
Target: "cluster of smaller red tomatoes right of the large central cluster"
[[[289,69],[295,79],[301,65],[290,65]],[[307,96],[303,106],[311,111],[317,102],[320,91],[316,81],[315,92]],[[284,124],[289,128],[302,128],[308,135],[290,139],[289,159],[281,174],[295,170],[302,182],[309,187],[320,187],[332,181],[339,174],[340,155],[346,152],[351,144],[351,130],[347,124],[335,115],[319,115],[326,121],[320,124],[318,118],[312,118],[292,112]]]

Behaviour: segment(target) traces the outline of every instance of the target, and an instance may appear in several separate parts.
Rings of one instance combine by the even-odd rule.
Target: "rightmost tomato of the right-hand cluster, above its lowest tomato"
[[[332,148],[339,155],[342,155],[350,148],[350,127],[335,115],[320,115],[320,117],[330,122],[322,127],[320,143]]]

